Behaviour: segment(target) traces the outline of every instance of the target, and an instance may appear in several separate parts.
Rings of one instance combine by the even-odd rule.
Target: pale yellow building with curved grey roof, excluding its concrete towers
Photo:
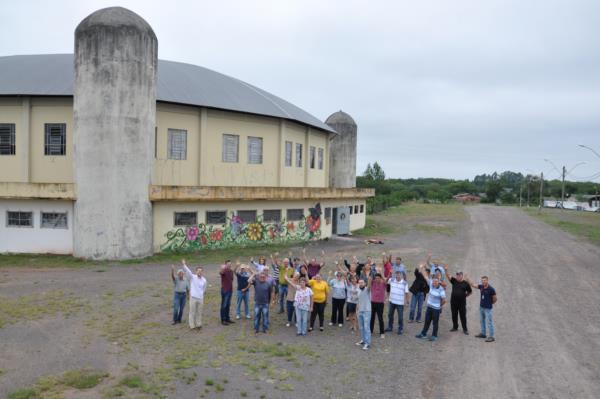
[[[72,55],[0,57],[0,252],[73,250],[73,79]],[[332,143],[343,139],[256,87],[159,61],[148,187],[154,251],[362,228],[373,191],[330,186],[332,173],[345,173],[330,162]]]

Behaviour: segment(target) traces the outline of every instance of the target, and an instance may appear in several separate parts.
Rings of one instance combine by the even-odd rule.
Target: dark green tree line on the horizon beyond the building
[[[375,197],[367,200],[367,212],[377,213],[406,201],[446,203],[456,194],[468,193],[481,197],[484,203],[522,204],[539,203],[540,176],[519,172],[481,174],[472,180],[441,178],[386,179],[385,172],[375,162],[367,165],[362,176],[357,176],[356,186],[374,188]],[[562,181],[544,180],[543,197],[560,198]],[[594,182],[565,182],[565,198],[583,200],[583,196],[600,193],[600,184]]]

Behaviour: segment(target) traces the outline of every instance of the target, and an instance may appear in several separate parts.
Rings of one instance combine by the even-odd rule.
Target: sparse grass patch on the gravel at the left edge
[[[86,306],[87,302],[81,297],[65,293],[62,290],[16,298],[0,296],[0,328],[4,325],[36,320],[56,313],[62,313],[68,317]]]

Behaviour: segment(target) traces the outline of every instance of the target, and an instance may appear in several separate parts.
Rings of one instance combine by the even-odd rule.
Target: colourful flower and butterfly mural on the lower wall
[[[309,208],[309,214],[302,220],[264,223],[261,218],[244,223],[233,214],[225,224],[178,227],[166,234],[167,241],[161,245],[162,251],[197,251],[201,249],[227,248],[273,244],[288,241],[308,241],[321,237],[321,204]]]

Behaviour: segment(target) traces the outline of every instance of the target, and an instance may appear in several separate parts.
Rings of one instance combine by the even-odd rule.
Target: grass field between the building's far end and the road
[[[409,202],[368,215],[365,228],[354,235],[365,237],[406,234],[419,231],[427,234],[453,235],[455,224],[466,217],[461,204],[421,204]]]

